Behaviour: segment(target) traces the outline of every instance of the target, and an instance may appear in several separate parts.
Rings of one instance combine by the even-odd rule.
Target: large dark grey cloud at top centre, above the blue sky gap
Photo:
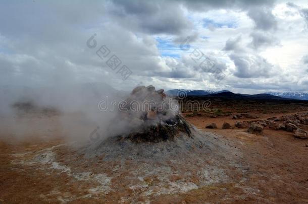
[[[150,34],[181,34],[192,29],[181,5],[167,1],[113,1],[110,14],[125,27]]]

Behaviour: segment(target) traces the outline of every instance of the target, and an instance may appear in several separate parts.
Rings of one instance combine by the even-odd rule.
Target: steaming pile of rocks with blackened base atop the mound
[[[181,116],[177,101],[169,98],[164,89],[138,86],[125,100],[120,118],[128,123],[129,133],[122,136],[133,142],[173,141],[180,133],[191,137],[191,126]]]

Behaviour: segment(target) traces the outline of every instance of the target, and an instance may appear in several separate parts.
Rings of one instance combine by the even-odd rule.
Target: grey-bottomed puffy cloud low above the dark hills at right
[[[273,65],[259,55],[232,53],[230,58],[236,67],[234,76],[238,78],[271,77]]]

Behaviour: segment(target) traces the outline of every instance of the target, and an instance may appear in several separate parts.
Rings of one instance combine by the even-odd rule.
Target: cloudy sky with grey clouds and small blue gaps
[[[304,0],[2,1],[0,19],[1,86],[308,87]]]

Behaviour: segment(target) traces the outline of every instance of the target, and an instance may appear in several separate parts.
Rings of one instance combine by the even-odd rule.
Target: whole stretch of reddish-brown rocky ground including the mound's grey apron
[[[154,91],[150,93],[162,96],[163,92]],[[140,140],[144,134],[129,131],[107,140],[89,138],[86,144],[68,142],[59,128],[60,115],[25,113],[24,120],[39,121],[41,128],[21,141],[13,141],[9,132],[2,133],[0,201],[307,202],[306,104],[229,103],[218,98],[211,101],[209,110],[180,109],[182,114],[171,117],[176,121],[171,124],[164,117],[167,114],[155,109],[153,114],[124,113],[142,120],[138,124],[146,130],[140,130],[143,133],[168,127],[173,137],[158,141]],[[2,124],[5,120],[1,118]],[[187,125],[178,126],[181,121]],[[76,123],[75,131],[91,130],[89,126]]]

